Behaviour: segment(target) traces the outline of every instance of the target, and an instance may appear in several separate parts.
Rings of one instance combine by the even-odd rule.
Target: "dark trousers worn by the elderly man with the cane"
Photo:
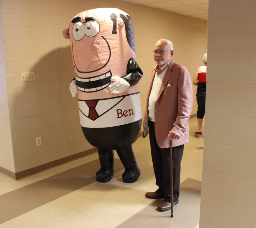
[[[164,196],[164,201],[171,202],[171,170],[170,148],[160,148],[156,142],[155,122],[148,121],[149,141],[156,185],[156,192]],[[173,202],[180,195],[180,163],[183,155],[184,144],[172,147],[172,177],[173,177]]]

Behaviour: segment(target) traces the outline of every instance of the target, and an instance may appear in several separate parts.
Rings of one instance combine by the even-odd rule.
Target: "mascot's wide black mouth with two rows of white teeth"
[[[76,85],[78,90],[82,92],[95,92],[106,88],[111,82],[111,77],[111,70],[94,77],[82,78],[76,75]]]

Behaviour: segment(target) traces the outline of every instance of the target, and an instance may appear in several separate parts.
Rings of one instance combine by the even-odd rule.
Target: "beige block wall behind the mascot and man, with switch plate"
[[[80,128],[77,98],[69,93],[74,72],[69,40],[62,37],[62,30],[78,12],[114,7],[131,16],[137,62],[144,72],[140,81],[143,113],[158,39],[172,40],[173,59],[188,68],[191,78],[207,51],[207,21],[168,11],[119,0],[0,2],[0,166],[13,173],[92,148]],[[21,82],[20,73],[31,71],[35,81]],[[37,137],[42,146],[36,147]]]

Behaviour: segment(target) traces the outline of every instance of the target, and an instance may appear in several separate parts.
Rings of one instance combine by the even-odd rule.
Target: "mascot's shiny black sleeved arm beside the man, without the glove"
[[[130,86],[136,85],[140,78],[143,76],[143,72],[140,69],[140,66],[138,63],[136,63],[134,58],[130,58],[127,64],[126,69],[126,75],[124,75],[122,78],[127,81]]]

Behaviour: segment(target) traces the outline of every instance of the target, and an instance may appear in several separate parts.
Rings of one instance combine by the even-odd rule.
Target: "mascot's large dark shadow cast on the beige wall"
[[[10,106],[16,173],[84,151],[87,143],[77,97],[69,92],[74,78],[69,44],[33,61],[35,80],[21,82]]]

